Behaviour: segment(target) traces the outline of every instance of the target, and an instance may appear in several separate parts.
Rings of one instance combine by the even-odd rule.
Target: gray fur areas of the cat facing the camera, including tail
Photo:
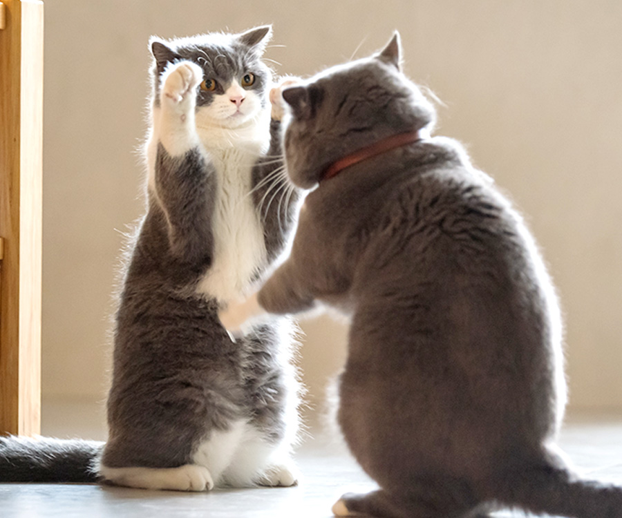
[[[205,77],[218,78],[220,90],[252,72],[249,88],[267,102],[272,74],[261,57],[270,33],[261,27],[241,35],[153,40],[153,106],[160,104],[160,75],[178,61],[198,64]],[[220,90],[197,88],[197,108]],[[285,184],[281,123],[272,119],[265,131],[270,148],[252,169],[249,193],[261,212],[267,252],[256,276],[283,251],[299,198],[294,192],[287,200],[265,201]],[[196,291],[214,258],[214,164],[199,148],[171,157],[160,144],[155,175],[129,247],[116,315],[109,441],[102,452],[101,443],[86,441],[0,439],[0,481],[93,481],[100,462],[109,468],[182,466],[193,462],[212,432],[240,420],[268,444],[292,440],[297,423],[285,415],[296,399],[291,340],[275,321],[234,343],[218,321],[217,300]]]

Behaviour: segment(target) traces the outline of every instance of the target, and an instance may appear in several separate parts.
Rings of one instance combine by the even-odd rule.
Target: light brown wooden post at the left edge
[[[44,3],[2,3],[0,434],[32,435],[41,426]]]

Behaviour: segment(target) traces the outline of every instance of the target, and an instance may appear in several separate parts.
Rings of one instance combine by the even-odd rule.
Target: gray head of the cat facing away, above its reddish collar
[[[283,90],[290,106],[285,159],[292,182],[311,189],[337,160],[397,133],[431,128],[435,110],[401,71],[397,32],[364,59]]]

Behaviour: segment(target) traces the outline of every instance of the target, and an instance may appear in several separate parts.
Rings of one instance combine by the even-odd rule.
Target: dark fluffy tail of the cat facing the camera
[[[97,482],[102,448],[98,441],[0,437],[0,482]]]

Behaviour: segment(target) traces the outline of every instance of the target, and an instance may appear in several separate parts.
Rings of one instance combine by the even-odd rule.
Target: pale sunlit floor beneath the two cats
[[[622,416],[581,419],[561,441],[591,478],[622,483]],[[304,479],[295,488],[216,490],[205,494],[156,492],[84,485],[0,484],[2,518],[328,518],[345,491],[373,489],[341,448],[310,442],[298,462]],[[503,512],[498,517],[525,517]]]

